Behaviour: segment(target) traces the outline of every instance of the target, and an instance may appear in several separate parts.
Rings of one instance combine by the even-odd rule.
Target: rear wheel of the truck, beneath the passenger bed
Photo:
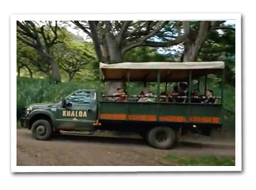
[[[164,138],[160,142],[158,134],[162,133]],[[175,144],[175,132],[171,128],[156,127],[149,131],[147,135],[149,145],[161,150],[167,150]]]

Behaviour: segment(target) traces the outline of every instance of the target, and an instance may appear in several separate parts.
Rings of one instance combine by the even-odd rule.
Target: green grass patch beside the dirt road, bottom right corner
[[[164,156],[168,165],[178,166],[235,166],[234,156],[210,156],[210,155],[186,155],[176,156],[167,154]]]

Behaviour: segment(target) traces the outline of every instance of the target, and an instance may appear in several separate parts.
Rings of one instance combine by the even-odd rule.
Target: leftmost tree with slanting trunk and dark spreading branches
[[[17,39],[34,48],[43,62],[50,65],[52,78],[56,82],[61,82],[58,63],[50,51],[57,43],[63,43],[63,39],[58,38],[58,29],[57,21],[54,26],[52,26],[52,21],[47,21],[46,25],[42,26],[34,21],[17,21]]]

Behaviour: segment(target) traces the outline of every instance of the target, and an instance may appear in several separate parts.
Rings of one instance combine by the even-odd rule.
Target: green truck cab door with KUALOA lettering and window
[[[97,116],[96,92],[76,91],[66,97],[69,106],[58,107],[56,123],[63,130],[94,130]]]

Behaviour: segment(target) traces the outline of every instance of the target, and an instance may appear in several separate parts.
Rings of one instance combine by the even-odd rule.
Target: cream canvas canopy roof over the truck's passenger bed
[[[220,72],[224,62],[121,62],[105,64],[100,62],[100,71],[105,81],[156,82],[158,70],[161,82],[182,82],[192,78]]]

